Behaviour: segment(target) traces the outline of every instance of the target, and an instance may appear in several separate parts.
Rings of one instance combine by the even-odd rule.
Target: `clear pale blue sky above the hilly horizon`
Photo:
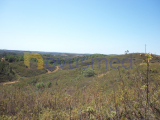
[[[159,0],[0,0],[0,49],[160,55]]]

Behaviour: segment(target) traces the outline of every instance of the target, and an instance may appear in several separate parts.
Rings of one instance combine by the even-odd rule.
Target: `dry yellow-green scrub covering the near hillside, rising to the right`
[[[130,55],[98,56],[106,58],[88,69],[70,69],[66,64],[57,72],[24,77],[12,85],[0,85],[0,119],[4,120],[129,120],[160,118],[160,58],[152,60],[142,54],[133,54],[133,69],[122,66]],[[118,58],[120,64],[110,67],[109,61]],[[142,60],[145,59],[144,63]],[[113,61],[117,63],[117,61]],[[22,64],[18,62],[18,64]],[[71,66],[75,66],[73,62]],[[125,61],[124,66],[130,66]],[[27,69],[27,68],[25,68]],[[44,68],[45,69],[45,68]],[[39,72],[38,72],[39,73]],[[27,73],[29,74],[29,73]]]

